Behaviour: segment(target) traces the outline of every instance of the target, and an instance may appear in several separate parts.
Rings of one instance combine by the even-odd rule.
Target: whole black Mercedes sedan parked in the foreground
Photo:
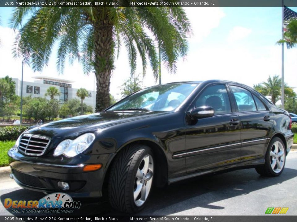
[[[156,85],[101,113],[31,126],[8,155],[21,187],[107,196],[133,213],[152,186],[249,167],[278,176],[292,144],[285,110],[243,84],[209,80]]]

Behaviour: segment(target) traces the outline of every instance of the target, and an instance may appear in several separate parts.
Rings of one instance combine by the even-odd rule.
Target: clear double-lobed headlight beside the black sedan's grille
[[[86,133],[75,140],[66,139],[59,143],[54,151],[54,156],[65,154],[67,157],[74,157],[77,154],[86,150],[94,141],[95,135],[92,133]]]

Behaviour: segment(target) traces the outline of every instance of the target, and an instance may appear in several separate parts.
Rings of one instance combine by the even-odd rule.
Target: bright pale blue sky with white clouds
[[[297,11],[297,7],[290,7]],[[8,27],[13,8],[0,7],[0,77],[10,75],[20,78],[20,62],[11,56],[14,34]],[[194,35],[189,39],[189,53],[186,61],[178,62],[175,75],[162,67],[162,82],[181,80],[226,79],[252,86],[265,81],[269,75],[281,75],[281,7],[185,7],[191,20]],[[2,56],[2,57],[1,57]],[[2,58],[2,59],[1,59]],[[285,81],[297,87],[295,63],[296,49],[285,49]],[[2,62],[1,62],[2,61]],[[26,67],[25,80],[45,75],[74,80],[73,87],[93,89],[93,74],[85,76],[81,65],[66,64],[62,76],[57,74],[56,52],[53,52],[49,66],[41,73],[33,73]],[[123,81],[129,77],[130,69],[124,48],[115,62],[116,69],[111,79],[111,93],[116,95]],[[13,67],[13,68],[12,68]],[[138,61],[137,72],[141,72]],[[144,86],[155,84],[148,68],[143,80]]]

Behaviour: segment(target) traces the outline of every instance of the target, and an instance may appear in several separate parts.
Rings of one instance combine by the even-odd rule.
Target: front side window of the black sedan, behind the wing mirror
[[[194,103],[195,107],[204,105],[213,107],[215,115],[231,113],[230,100],[225,85],[207,87]]]

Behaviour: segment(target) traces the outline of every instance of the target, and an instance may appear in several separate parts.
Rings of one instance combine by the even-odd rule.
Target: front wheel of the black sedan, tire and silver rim
[[[131,145],[120,151],[109,177],[111,207],[129,214],[143,209],[152,187],[153,167],[153,152],[148,146]]]

